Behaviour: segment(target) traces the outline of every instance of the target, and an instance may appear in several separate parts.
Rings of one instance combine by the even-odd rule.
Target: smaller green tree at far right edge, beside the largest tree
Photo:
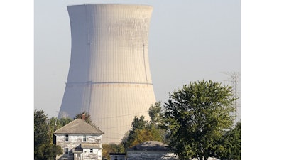
[[[222,136],[217,155],[221,160],[241,160],[241,122]]]

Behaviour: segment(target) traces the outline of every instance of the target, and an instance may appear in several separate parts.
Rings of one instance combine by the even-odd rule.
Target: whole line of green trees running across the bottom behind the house
[[[209,157],[239,160],[241,122],[234,123],[235,100],[229,85],[212,80],[190,82],[170,93],[163,107],[161,102],[151,105],[149,122],[143,116],[134,117],[131,129],[120,144],[103,144],[102,156],[109,159],[110,152],[123,153],[132,146],[155,140],[171,146],[181,160]],[[83,113],[92,124],[91,115]],[[53,132],[71,121],[70,118],[47,119],[43,110],[35,110],[36,159],[52,159],[62,154],[62,149],[52,143]]]

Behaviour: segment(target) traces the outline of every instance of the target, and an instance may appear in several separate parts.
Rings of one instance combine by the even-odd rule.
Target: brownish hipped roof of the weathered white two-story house
[[[53,132],[55,134],[104,134],[101,130],[88,124],[83,119],[77,118]]]

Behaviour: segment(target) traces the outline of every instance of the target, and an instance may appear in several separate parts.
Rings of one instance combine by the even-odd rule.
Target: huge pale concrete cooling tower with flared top
[[[72,37],[71,60],[58,117],[84,111],[119,143],[134,116],[155,103],[148,58],[152,6],[84,4],[67,6]]]

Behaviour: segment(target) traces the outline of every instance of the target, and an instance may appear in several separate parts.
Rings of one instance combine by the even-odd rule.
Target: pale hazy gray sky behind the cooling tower
[[[231,85],[224,73],[241,73],[241,1],[34,1],[34,105],[58,116],[70,65],[67,6],[153,6],[149,31],[151,77],[157,101],[192,81]]]

